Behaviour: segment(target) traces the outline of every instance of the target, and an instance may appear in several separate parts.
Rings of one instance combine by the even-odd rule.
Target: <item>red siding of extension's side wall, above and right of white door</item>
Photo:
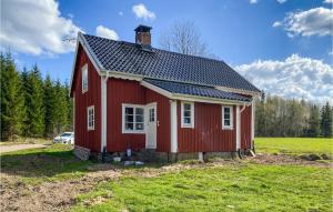
[[[157,102],[158,135],[157,151],[170,152],[170,100],[152,90],[145,89],[147,103]]]

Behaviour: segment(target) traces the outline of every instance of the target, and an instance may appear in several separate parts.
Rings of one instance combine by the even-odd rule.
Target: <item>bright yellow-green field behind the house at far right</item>
[[[255,150],[261,153],[333,155],[333,139],[322,138],[256,138]]]

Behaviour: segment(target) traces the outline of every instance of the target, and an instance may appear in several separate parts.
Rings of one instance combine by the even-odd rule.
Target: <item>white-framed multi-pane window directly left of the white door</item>
[[[144,133],[143,105],[122,105],[122,133]]]

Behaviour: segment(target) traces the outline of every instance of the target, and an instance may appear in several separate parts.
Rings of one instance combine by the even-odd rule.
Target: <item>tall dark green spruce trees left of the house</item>
[[[1,141],[52,138],[72,130],[69,84],[44,79],[37,64],[18,71],[10,52],[0,54]]]

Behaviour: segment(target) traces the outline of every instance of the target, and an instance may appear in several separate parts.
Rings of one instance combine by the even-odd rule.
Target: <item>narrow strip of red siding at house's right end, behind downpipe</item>
[[[252,108],[246,107],[241,114],[241,148],[251,148],[251,113]]]

